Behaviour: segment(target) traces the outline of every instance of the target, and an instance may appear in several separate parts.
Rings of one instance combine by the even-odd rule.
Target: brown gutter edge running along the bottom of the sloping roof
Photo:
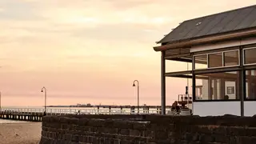
[[[164,50],[170,50],[174,48],[179,48],[179,47],[184,47],[184,46],[193,46],[193,45],[199,45],[199,44],[205,44],[205,43],[210,43],[210,42],[219,42],[219,41],[224,41],[224,40],[229,40],[229,39],[234,39],[234,38],[243,38],[246,36],[250,36],[256,34],[256,29],[253,30],[243,30],[240,32],[234,32],[234,33],[229,33],[229,34],[221,34],[217,36],[210,36],[210,37],[205,37],[205,38],[196,38],[190,41],[183,41],[183,42],[174,42],[170,44],[166,44],[163,46],[154,46],[155,51],[164,51]]]

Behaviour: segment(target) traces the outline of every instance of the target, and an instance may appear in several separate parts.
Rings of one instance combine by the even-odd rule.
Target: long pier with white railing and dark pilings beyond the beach
[[[46,114],[45,114],[46,111]],[[67,114],[161,114],[160,106],[96,106],[96,107],[48,107],[45,108],[13,108],[3,107],[0,118],[30,122],[42,122],[44,115]]]

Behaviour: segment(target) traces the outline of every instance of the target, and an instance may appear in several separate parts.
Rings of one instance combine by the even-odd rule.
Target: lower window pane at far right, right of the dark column
[[[256,99],[256,70],[246,70],[246,99]]]

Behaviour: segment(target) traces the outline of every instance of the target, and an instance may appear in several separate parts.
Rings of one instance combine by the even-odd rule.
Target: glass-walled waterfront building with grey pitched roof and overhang
[[[187,20],[157,43],[162,114],[166,77],[192,79],[196,115],[256,114],[256,5]],[[192,69],[166,72],[166,61],[190,62]]]

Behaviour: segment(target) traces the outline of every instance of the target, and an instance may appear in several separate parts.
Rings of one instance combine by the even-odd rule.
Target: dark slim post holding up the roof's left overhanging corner
[[[166,114],[166,52],[161,53],[161,107],[162,114]]]

